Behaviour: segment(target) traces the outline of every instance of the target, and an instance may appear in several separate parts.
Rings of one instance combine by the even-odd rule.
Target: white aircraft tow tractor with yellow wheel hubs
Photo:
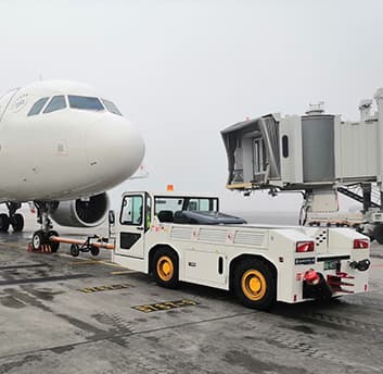
[[[178,282],[233,290],[251,308],[368,290],[369,238],[348,228],[255,226],[217,197],[126,192],[110,215],[112,261]]]

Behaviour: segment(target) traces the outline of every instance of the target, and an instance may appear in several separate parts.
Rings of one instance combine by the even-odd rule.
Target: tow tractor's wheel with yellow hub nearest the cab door
[[[177,288],[178,255],[166,248],[158,249],[153,255],[153,275],[158,286]]]

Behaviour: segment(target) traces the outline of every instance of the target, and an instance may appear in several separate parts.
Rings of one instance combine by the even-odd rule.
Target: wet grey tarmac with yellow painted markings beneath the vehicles
[[[27,252],[36,227],[0,235],[0,374],[383,372],[383,246],[368,294],[260,312],[222,290],[161,288],[107,250]]]

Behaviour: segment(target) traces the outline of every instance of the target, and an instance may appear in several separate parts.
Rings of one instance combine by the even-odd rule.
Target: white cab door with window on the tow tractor
[[[146,225],[145,199],[144,192],[132,192],[123,197],[120,214],[116,224],[116,254],[143,259]]]

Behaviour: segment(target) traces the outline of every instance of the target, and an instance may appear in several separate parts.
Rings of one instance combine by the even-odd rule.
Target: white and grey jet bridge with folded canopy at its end
[[[374,99],[376,110],[373,100],[360,102],[357,122],[324,113],[319,103],[310,105],[304,115],[266,114],[225,128],[221,136],[228,158],[227,188],[245,194],[256,189],[304,191],[304,208],[309,211],[316,204],[312,201],[324,201],[323,192],[333,201],[336,190],[355,198],[356,194],[347,190],[357,186],[362,192],[355,200],[363,203],[363,212],[380,211],[383,88],[378,89]],[[371,201],[372,184],[380,190],[379,203]],[[315,199],[316,194],[319,199]],[[337,202],[327,204],[337,209]]]

